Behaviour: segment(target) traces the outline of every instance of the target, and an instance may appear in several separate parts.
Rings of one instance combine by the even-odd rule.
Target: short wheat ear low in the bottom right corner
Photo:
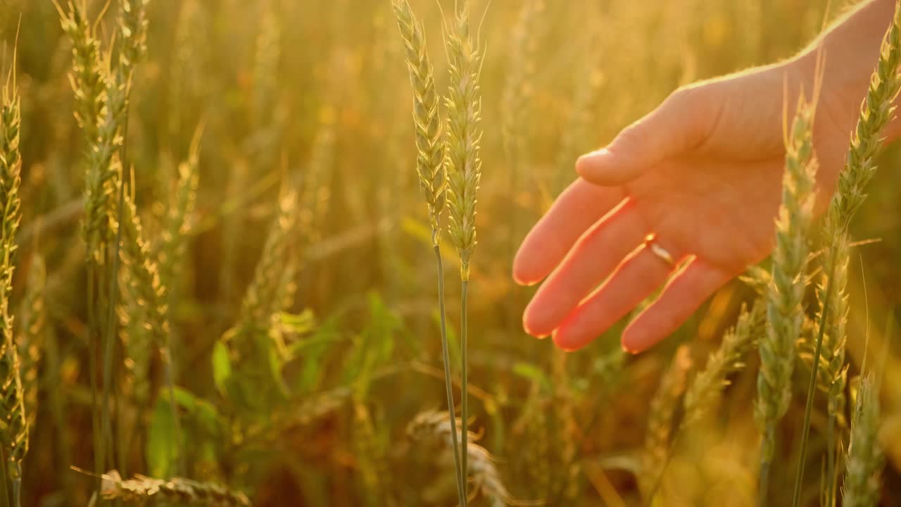
[[[879,448],[879,396],[871,374],[860,379],[851,419],[851,444],[845,473],[844,507],[872,507],[877,504],[885,456]]]

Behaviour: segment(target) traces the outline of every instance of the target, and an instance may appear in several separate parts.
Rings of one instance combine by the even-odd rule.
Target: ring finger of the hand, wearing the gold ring
[[[669,252],[675,255],[672,250]],[[564,350],[586,346],[657,290],[670,272],[672,266],[642,244],[594,294],[569,314],[554,331],[554,343]]]

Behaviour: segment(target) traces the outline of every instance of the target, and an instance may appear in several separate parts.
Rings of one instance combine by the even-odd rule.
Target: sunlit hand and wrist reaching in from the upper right
[[[578,178],[514,259],[515,281],[543,280],[523,313],[526,332],[576,350],[662,286],[623,331],[623,348],[642,352],[769,255],[784,124],[800,94],[817,99],[824,210],[894,9],[893,0],[870,0],[792,60],[680,88],[580,157]],[[887,134],[899,134],[896,122]],[[682,266],[678,272],[644,244],[649,234]]]

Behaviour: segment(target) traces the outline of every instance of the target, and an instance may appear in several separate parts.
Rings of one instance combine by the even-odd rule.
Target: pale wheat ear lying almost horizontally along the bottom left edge
[[[123,480],[116,470],[102,476],[101,495],[107,500],[118,500],[137,505],[185,505],[205,507],[250,507],[250,499],[244,493],[229,491],[219,484],[201,483],[174,477],[168,480],[145,475]]]

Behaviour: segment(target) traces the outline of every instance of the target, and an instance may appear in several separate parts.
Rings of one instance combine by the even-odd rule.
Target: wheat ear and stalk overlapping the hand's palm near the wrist
[[[813,146],[815,103],[798,101],[786,139],[782,205],[776,221],[776,248],[767,290],[767,332],[760,340],[760,373],[754,416],[763,432],[760,497],[766,502],[769,464],[776,450],[776,427],[791,401],[795,343],[804,322],[807,230],[813,215],[816,159]]]

